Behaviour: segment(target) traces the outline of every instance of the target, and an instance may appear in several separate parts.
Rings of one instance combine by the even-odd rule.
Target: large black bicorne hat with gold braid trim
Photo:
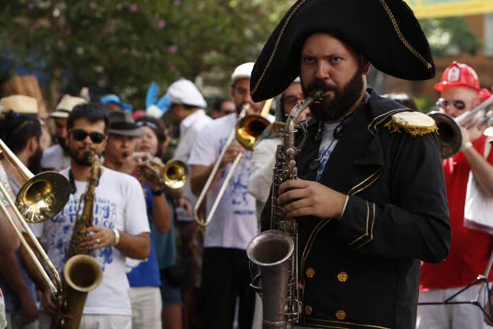
[[[405,80],[435,76],[428,40],[402,0],[298,0],[255,62],[254,101],[282,93],[299,75],[305,40],[328,33],[346,42],[380,71]]]

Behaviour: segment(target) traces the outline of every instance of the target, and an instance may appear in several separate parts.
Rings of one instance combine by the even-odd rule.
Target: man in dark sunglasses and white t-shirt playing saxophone
[[[88,155],[101,156],[107,143],[108,118],[103,106],[94,103],[75,106],[68,116],[67,130],[71,166],[61,173],[71,182],[71,195],[58,215],[33,228],[36,236],[42,236],[47,244],[49,258],[60,273],[92,167]],[[92,256],[101,265],[103,280],[88,293],[80,328],[131,328],[125,257],[149,256],[151,244],[144,195],[136,178],[107,167],[101,167],[95,193],[93,226],[82,232],[85,236],[81,245],[94,252]],[[31,269],[33,272],[36,269]],[[36,283],[43,291],[45,310],[40,315],[40,328],[49,328],[49,315],[53,315],[55,304],[46,284],[40,279]]]

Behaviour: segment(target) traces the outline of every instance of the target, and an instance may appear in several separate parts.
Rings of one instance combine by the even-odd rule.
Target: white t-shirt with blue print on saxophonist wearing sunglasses
[[[131,235],[150,232],[144,193],[138,180],[131,175],[101,167],[101,178],[94,196],[94,226],[116,228]],[[68,178],[68,168],[61,171]],[[87,182],[75,182],[77,191],[58,215],[50,221],[32,224],[36,236],[47,245],[47,254],[60,274],[66,262],[73,222],[79,200]],[[84,204],[81,204],[81,210]],[[125,274],[125,256],[114,247],[106,247],[93,255],[103,269],[103,281],[90,293],[84,314],[131,315],[129,282]]]

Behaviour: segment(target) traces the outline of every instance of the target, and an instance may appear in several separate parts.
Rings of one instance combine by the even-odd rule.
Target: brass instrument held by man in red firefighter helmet
[[[465,112],[456,118],[440,111],[432,111],[427,113],[435,120],[435,124],[438,127],[438,141],[440,142],[442,158],[446,159],[451,156],[455,156],[455,154],[457,154],[460,150],[460,147],[462,146],[462,134],[460,127],[466,126],[472,121],[472,119],[475,119],[480,112],[484,112],[483,117],[478,119],[478,122],[472,125],[472,127],[477,127],[491,121],[491,115],[487,112],[487,109],[492,103],[493,96],[486,99],[483,103],[479,104],[479,106],[476,106],[469,112]],[[471,129],[472,127],[468,127],[468,129]]]

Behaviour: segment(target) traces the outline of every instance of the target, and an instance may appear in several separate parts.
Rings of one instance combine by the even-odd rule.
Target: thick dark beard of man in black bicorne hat
[[[315,80],[307,88],[301,84],[301,87],[305,97],[316,89],[322,89],[324,93],[333,91],[332,99],[324,98],[320,103],[313,103],[309,108],[313,117],[318,121],[339,121],[362,95],[364,88],[362,69],[359,68],[341,90],[337,86],[325,84],[323,80]]]

